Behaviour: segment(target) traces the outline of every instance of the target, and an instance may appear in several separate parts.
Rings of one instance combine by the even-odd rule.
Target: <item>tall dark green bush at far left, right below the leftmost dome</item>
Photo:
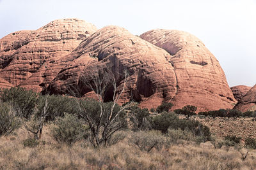
[[[20,117],[29,118],[38,104],[38,94],[20,87],[3,89],[0,99],[4,103],[11,103]]]

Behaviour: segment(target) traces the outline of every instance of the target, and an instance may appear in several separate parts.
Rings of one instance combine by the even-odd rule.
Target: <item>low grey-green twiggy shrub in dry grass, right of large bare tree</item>
[[[130,143],[138,146],[140,150],[150,152],[153,148],[156,148],[157,150],[163,148],[166,139],[161,132],[138,131],[132,133],[129,141]]]

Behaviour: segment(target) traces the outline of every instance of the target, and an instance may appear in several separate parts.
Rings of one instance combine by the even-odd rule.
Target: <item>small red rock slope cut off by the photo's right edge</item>
[[[256,110],[256,85],[252,87],[236,104],[234,109],[247,111]]]

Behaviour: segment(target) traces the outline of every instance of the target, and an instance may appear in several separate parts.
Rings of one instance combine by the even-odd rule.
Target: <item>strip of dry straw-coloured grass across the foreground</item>
[[[127,138],[108,148],[92,148],[82,141],[72,147],[56,143],[46,126],[40,144],[22,145],[24,129],[0,138],[0,169],[256,169],[256,150],[245,160],[234,148],[214,149],[209,143],[171,144],[161,150],[141,151]],[[245,149],[242,152],[246,152]]]

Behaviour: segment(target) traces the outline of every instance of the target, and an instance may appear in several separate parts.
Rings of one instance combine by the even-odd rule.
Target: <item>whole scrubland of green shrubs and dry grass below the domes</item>
[[[216,136],[201,121],[254,121],[253,111],[195,117],[195,106],[148,111],[21,88],[1,90],[0,102],[0,169],[256,169],[255,136]]]

